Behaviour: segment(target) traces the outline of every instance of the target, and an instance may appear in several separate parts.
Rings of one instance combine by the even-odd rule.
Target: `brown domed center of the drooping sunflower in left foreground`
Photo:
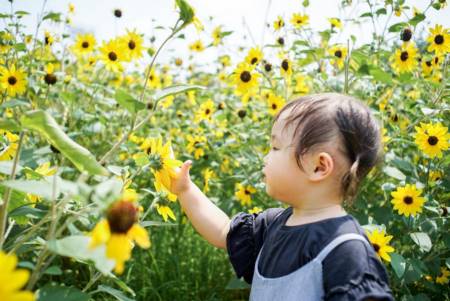
[[[138,209],[132,202],[119,201],[109,209],[106,216],[113,233],[125,234],[137,221]]]

